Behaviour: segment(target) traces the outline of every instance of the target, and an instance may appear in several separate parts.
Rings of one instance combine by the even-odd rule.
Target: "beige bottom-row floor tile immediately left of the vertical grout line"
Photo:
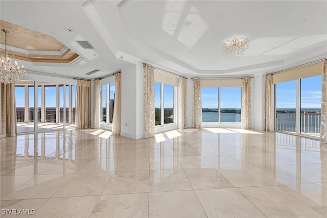
[[[148,217],[148,193],[102,195],[91,217]]]

